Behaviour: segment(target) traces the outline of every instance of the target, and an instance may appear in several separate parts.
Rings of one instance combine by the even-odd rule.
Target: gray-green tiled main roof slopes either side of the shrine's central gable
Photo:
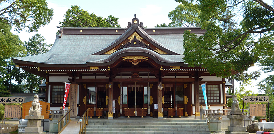
[[[128,30],[129,31],[129,30]],[[183,62],[183,36],[182,34],[147,34],[140,30],[148,37],[151,37],[155,43],[162,47],[176,52],[180,55],[158,54],[166,58],[169,62]],[[32,62],[42,64],[82,64],[87,62],[100,61],[109,55],[91,55],[99,52],[117,42],[124,34],[63,34],[61,38],[56,36],[52,48],[44,54],[38,54],[28,57],[13,58],[21,62]],[[154,51],[152,51],[154,52]],[[155,53],[155,52],[154,52]],[[157,53],[155,53],[157,54]],[[167,61],[168,61],[167,60]],[[26,63],[27,64],[27,63]]]

